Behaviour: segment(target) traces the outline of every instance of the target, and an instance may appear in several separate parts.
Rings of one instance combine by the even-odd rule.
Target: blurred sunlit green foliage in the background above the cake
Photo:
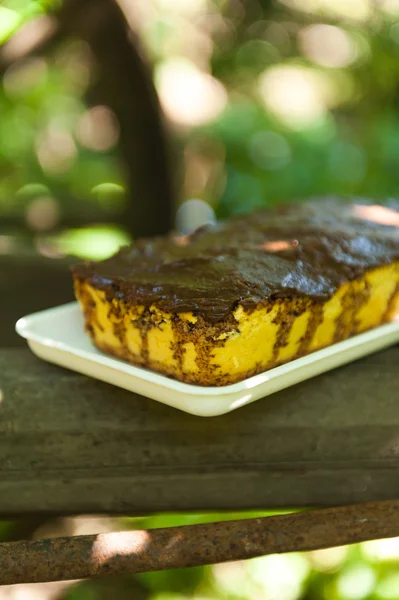
[[[4,2],[8,17],[2,22],[10,23],[4,35],[53,4]],[[225,217],[319,194],[398,195],[399,25],[394,8],[389,12],[385,5],[359,1],[356,12],[321,0],[309,4],[313,12],[307,3],[294,0],[294,9],[256,0],[245,8],[240,2],[199,0],[179,3],[179,8],[166,0],[152,5],[141,35],[155,74],[170,59],[184,57],[200,78],[198,94],[206,88],[201,73],[207,71],[225,93],[223,108],[198,117],[195,96],[182,100],[175,86],[178,108],[171,115],[172,131],[185,147],[187,172],[198,172],[187,178],[182,200],[202,198]],[[331,40],[330,54],[323,54],[320,24],[330,24],[332,42],[334,35],[343,36],[347,55],[337,54],[339,44],[331,45]],[[173,104],[175,80],[168,77],[170,72],[159,92],[162,100],[165,93],[166,100],[172,94]],[[91,59],[78,42],[66,42],[51,56],[5,73],[0,88],[0,217],[25,217],[35,230],[27,215],[43,195],[57,208],[53,227],[71,219],[77,224],[112,221],[121,213],[126,184],[117,138],[104,148],[82,135],[88,118],[83,96],[91,81]],[[212,105],[213,93],[204,96],[204,106]],[[121,193],[107,192],[112,186]],[[43,229],[51,229],[51,223]]]

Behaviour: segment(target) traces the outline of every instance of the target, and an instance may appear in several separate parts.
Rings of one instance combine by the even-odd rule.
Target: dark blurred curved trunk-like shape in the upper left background
[[[174,205],[170,145],[151,71],[117,2],[65,0],[58,10],[28,22],[4,43],[0,69],[9,72],[32,56],[54,52],[68,37],[86,42],[95,61],[95,81],[87,99],[109,106],[119,124],[130,187],[121,222],[134,235],[168,231]]]

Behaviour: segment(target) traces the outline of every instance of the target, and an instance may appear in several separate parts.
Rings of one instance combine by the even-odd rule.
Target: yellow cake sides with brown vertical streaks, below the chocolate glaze
[[[79,279],[75,292],[100,350],[189,383],[225,385],[394,319],[399,261],[343,284],[325,302],[294,297],[252,310],[239,305],[218,323],[109,301]]]

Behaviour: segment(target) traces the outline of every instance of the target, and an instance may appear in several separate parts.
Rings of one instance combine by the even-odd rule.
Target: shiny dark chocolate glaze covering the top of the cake
[[[315,198],[188,237],[138,240],[108,260],[72,270],[109,299],[194,312],[215,322],[238,304],[251,309],[273,298],[325,300],[343,282],[395,259],[399,201]]]

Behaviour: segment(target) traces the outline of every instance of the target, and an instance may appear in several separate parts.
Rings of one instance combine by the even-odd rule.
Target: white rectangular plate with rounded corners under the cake
[[[158,400],[193,415],[212,417],[399,342],[399,322],[382,325],[308,356],[223,387],[181,383],[97,350],[84,331],[76,302],[24,317],[16,330],[40,358]]]

